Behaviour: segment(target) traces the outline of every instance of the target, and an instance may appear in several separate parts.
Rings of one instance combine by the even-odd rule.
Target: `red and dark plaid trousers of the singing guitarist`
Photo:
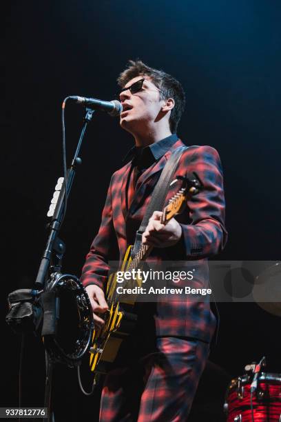
[[[187,421],[209,344],[171,336],[155,341],[154,352],[107,374],[101,422]]]

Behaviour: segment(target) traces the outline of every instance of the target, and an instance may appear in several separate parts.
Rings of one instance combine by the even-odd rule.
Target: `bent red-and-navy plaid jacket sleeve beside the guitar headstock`
[[[183,234],[179,243],[184,245],[188,259],[211,257],[220,252],[227,241],[220,157],[214,148],[200,146],[191,157],[185,154],[183,160],[183,165],[187,165],[187,175],[191,177],[192,172],[196,172],[203,189],[187,201],[191,223],[180,224]]]

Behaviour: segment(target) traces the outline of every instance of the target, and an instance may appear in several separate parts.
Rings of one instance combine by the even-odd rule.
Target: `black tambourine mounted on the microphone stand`
[[[94,330],[92,307],[85,288],[76,276],[55,272],[42,299],[42,334],[50,358],[71,368],[79,365],[90,348]]]

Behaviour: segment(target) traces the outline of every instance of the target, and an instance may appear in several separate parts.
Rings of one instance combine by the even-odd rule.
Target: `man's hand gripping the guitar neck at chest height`
[[[174,218],[166,225],[160,223],[163,212],[154,211],[145,232],[143,233],[143,244],[155,248],[167,248],[175,245],[181,237],[182,228]]]

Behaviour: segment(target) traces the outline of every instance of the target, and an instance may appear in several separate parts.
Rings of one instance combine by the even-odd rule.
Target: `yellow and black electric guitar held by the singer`
[[[167,224],[176,214],[180,214],[185,207],[187,199],[193,195],[198,194],[202,190],[202,182],[198,175],[194,173],[194,179],[187,179],[187,177],[177,177],[172,183],[182,180],[182,188],[169,200],[169,203],[163,209],[163,214],[160,222]],[[172,184],[171,183],[171,184]],[[140,268],[140,265],[152,252],[153,247],[143,245],[134,251],[134,258],[131,257],[132,245],[129,245],[123,259],[120,271],[132,272],[133,269]],[[123,287],[129,285],[130,281],[123,281]],[[136,285],[141,286],[142,280],[136,279]],[[102,327],[95,326],[92,335],[92,345],[90,347],[90,369],[94,372],[94,376],[106,373],[108,365],[114,361],[116,354],[121,346],[123,339],[125,339],[130,332],[132,332],[136,324],[136,315],[134,310],[134,295],[132,299],[124,300],[122,294],[117,294],[116,287],[117,275],[116,272],[110,274],[107,281],[107,288],[105,299],[109,309],[105,314],[100,315],[105,321]],[[131,285],[132,286],[132,281]]]

